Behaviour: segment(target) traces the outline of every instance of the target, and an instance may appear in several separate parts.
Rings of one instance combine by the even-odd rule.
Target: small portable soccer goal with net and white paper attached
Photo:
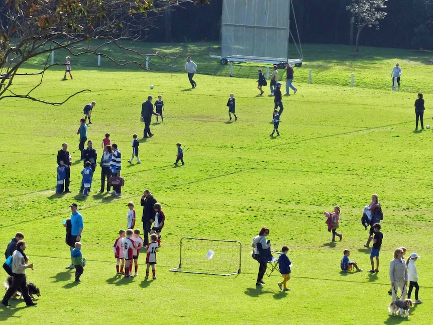
[[[239,241],[182,237],[179,267],[172,272],[234,275],[241,273],[242,244]]]

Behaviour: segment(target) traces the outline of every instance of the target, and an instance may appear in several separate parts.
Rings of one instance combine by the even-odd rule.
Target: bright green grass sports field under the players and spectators
[[[395,50],[398,55],[394,56],[394,50],[387,50],[391,54],[382,56],[385,49],[362,50],[374,59],[364,76],[369,82],[362,86],[356,82],[350,88],[350,54],[343,54],[349,53],[348,48],[336,47],[335,52],[331,47],[304,49],[305,57],[314,59],[296,69],[298,92],[283,98],[281,136],[270,138],[273,98],[257,96],[257,66],[238,65],[238,77],[223,77],[219,74],[227,75],[227,70],[216,69],[228,67],[206,58],[205,51],[201,51],[203,61],[195,62],[199,68],[214,67],[209,68],[213,75],[198,74],[193,90],[186,75],[178,73],[183,59],[175,63],[180,68],[172,73],[74,69],[73,61],[74,80],[62,81],[61,69],[50,71],[37,95],[61,101],[83,88],[91,92],[59,107],[2,100],[0,242],[6,247],[17,231],[24,232],[26,253],[35,263],[28,277],[40,287],[42,297],[30,309],[23,301],[11,299],[12,307],[0,311],[0,322],[398,324],[402,319],[387,312],[388,264],[394,249],[404,245],[409,253],[421,256],[416,264],[424,304],[411,309],[410,319],[429,324],[433,135],[413,131],[417,91],[422,90],[426,100],[425,124],[431,124],[433,115],[430,67],[424,64],[428,53],[415,60],[409,51]],[[387,86],[396,59],[404,73],[401,92],[391,92]],[[366,60],[356,58],[360,61],[356,68],[361,69]],[[322,66],[323,74],[319,81],[307,84],[311,66]],[[31,78],[17,77],[14,89],[29,89]],[[153,90],[150,84],[155,85]],[[226,107],[231,92],[239,116],[232,123]],[[140,140],[142,164],[128,164],[132,134],[142,134],[141,103],[148,94],[159,93],[166,122],[153,123],[155,136]],[[99,143],[109,132],[123,154],[126,185],[120,198],[96,193],[99,167],[89,197],[83,199],[78,193],[82,165],[76,131],[82,107],[91,100],[97,105],[89,139],[100,154]],[[69,144],[73,157],[72,193],[58,195],[54,193],[55,160],[63,142]],[[176,142],[190,148],[185,166],[177,168],[173,167]],[[126,226],[127,202],[133,200],[141,214],[139,200],[146,188],[161,202],[167,217],[158,252],[158,279],[144,280],[144,255],[140,276],[121,279],[115,276],[112,244]],[[379,194],[385,219],[380,272],[370,275],[366,272],[369,251],[363,247],[367,231],[360,218],[372,193]],[[70,259],[61,224],[70,215],[72,202],[77,202],[84,217],[82,251],[88,261],[78,285],[73,272],[65,270]],[[335,204],[342,208],[343,241],[330,243],[322,213]],[[279,292],[276,283],[281,277],[275,273],[265,279],[263,288],[255,286],[258,265],[249,252],[251,239],[262,226],[270,228],[268,238],[274,249],[290,247],[294,267],[288,293]],[[182,236],[241,241],[241,274],[169,272],[179,264]],[[346,248],[364,272],[340,273]]]

